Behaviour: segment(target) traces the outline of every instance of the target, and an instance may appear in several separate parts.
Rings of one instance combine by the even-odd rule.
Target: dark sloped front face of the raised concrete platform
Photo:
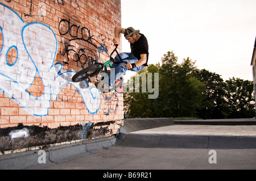
[[[130,133],[120,146],[135,148],[256,149],[256,137]]]

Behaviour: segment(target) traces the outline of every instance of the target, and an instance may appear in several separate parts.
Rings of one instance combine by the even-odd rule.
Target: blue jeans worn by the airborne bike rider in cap
[[[113,68],[115,69],[115,74],[112,74],[112,71],[110,71],[109,75],[109,86],[113,86],[115,81],[117,81],[120,77],[122,77],[123,74],[127,70],[127,66],[125,66],[126,63],[133,64],[138,61],[138,59],[134,56],[133,53],[119,53],[120,57],[122,58],[122,61],[118,56],[115,56],[114,58],[114,63],[113,63]],[[144,68],[143,65],[138,66],[136,68],[130,69],[131,71],[141,71]]]

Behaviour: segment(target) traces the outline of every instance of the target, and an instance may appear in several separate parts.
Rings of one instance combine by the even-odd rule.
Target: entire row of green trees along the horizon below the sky
[[[124,106],[130,117],[197,117],[203,119],[254,117],[252,81],[229,79],[208,70],[199,70],[189,57],[180,64],[174,52],[167,52],[162,62],[143,69],[126,83]],[[142,91],[143,75],[159,73],[159,96],[148,99]],[[134,81],[139,79],[140,81]],[[137,83],[137,84],[135,84]],[[154,83],[152,83],[154,85]],[[144,85],[145,86],[145,85]]]

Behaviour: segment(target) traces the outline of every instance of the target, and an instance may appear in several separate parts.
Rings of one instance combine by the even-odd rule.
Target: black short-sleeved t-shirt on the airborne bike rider
[[[147,61],[148,61],[148,43],[147,43],[147,38],[139,33],[141,37],[139,37],[138,41],[136,41],[134,44],[131,45],[131,53],[134,54],[134,56],[140,60],[141,59],[141,54],[147,54]],[[148,66],[147,62],[144,64],[144,66]]]

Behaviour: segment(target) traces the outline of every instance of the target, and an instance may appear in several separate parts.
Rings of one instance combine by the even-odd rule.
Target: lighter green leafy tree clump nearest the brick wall
[[[184,59],[177,64],[173,52],[167,52],[162,58],[162,65],[150,65],[141,73],[159,72],[159,96],[148,99],[148,92],[142,92],[141,82],[134,85],[133,92],[125,93],[125,109],[130,117],[191,117],[196,116],[196,110],[203,99],[203,83],[192,75],[195,62]],[[140,77],[140,74],[133,78]],[[134,81],[129,81],[128,83]],[[130,87],[130,86],[129,86]]]

